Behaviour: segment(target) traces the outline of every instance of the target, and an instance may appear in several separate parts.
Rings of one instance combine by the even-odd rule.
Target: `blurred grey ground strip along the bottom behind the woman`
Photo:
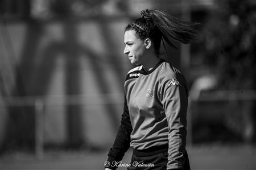
[[[256,169],[255,146],[193,146],[187,147],[191,168],[196,169]],[[0,157],[0,169],[104,169],[108,150],[46,151],[38,160],[32,154],[12,152]],[[129,164],[131,150],[122,163]],[[118,168],[126,169],[126,168]]]

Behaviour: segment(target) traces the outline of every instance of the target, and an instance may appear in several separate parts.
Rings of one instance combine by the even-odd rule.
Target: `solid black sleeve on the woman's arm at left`
[[[109,169],[117,169],[118,161],[121,161],[123,158],[123,155],[125,155],[125,152],[130,147],[130,134],[133,128],[131,127],[131,121],[130,121],[130,115],[129,110],[127,107],[127,100],[125,96],[125,103],[123,106],[123,114],[121,118],[121,125],[119,126],[119,130],[117,132],[117,136],[115,137],[115,141],[113,144],[113,147],[110,148],[109,154],[108,154],[108,161],[109,166],[105,168]]]

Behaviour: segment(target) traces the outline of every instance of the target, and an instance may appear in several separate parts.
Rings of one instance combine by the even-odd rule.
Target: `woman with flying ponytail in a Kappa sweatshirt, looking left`
[[[170,63],[160,59],[161,41],[189,43],[196,24],[160,10],[143,10],[125,28],[124,53],[132,64],[125,81],[125,104],[106,169],[190,169],[186,142],[187,83]],[[131,163],[122,163],[133,147]]]

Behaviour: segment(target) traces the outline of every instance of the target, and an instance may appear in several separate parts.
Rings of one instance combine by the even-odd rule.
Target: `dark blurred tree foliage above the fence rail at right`
[[[223,1],[205,24],[207,64],[215,66],[220,89],[255,89],[256,3]]]

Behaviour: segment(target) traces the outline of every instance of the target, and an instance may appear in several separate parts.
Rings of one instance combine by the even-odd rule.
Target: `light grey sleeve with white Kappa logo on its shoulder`
[[[187,126],[187,83],[181,74],[163,79],[160,100],[168,122],[167,169],[183,169]]]

